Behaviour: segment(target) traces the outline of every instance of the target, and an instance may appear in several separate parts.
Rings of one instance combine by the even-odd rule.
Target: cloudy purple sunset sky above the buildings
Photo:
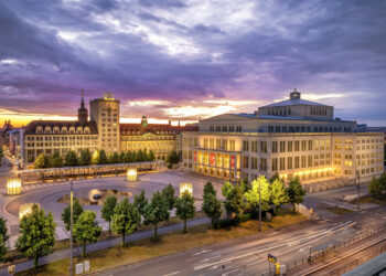
[[[196,121],[286,99],[386,126],[386,1],[0,2],[0,124],[74,119],[103,92],[121,121]]]

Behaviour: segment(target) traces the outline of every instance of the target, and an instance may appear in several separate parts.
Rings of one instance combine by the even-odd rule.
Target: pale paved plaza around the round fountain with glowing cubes
[[[204,185],[207,181],[212,181],[215,189],[217,190],[217,195],[221,197],[221,185],[222,181],[197,177],[190,172],[183,171],[163,171],[157,173],[143,173],[138,176],[138,181],[128,182],[126,176],[109,177],[109,178],[98,178],[88,180],[76,180],[74,181],[74,197],[78,193],[85,193],[87,191],[93,191],[95,189],[99,190],[117,190],[120,192],[127,192],[130,195],[130,201],[133,200],[133,195],[139,194],[142,190],[148,199],[151,195],[162,190],[165,185],[171,183],[175,189],[175,195],[179,194],[179,185],[183,182],[192,183],[193,195],[195,198],[195,204],[197,210],[201,210],[202,204],[202,193]],[[64,224],[61,219],[63,209],[67,206],[66,203],[57,202],[58,199],[65,194],[69,194],[69,182],[51,182],[51,183],[39,183],[39,184],[26,184],[22,188],[22,194],[15,197],[7,197],[6,187],[2,184],[0,192],[0,215],[7,219],[10,240],[9,246],[14,248],[14,242],[18,238],[19,231],[19,209],[21,204],[24,203],[39,203],[46,212],[52,212],[57,223],[56,226],[56,238],[65,240],[68,238],[68,232],[64,229]],[[97,214],[97,220],[104,230],[107,230],[108,223],[105,222],[100,216],[100,205],[96,204],[85,204],[84,209],[93,210]],[[174,212],[172,211],[172,215]]]

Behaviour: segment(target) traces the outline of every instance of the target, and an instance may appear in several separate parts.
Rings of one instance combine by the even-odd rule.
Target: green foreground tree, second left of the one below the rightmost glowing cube
[[[144,224],[154,226],[154,240],[157,240],[157,227],[160,222],[168,221],[170,216],[167,199],[157,191],[151,198],[150,204],[144,208]]]

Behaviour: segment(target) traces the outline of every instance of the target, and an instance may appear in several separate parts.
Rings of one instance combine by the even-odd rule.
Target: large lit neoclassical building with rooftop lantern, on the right
[[[384,132],[360,131],[333,113],[294,91],[254,114],[201,120],[200,131],[182,135],[183,167],[232,181],[299,176],[304,184],[367,182],[383,173]]]

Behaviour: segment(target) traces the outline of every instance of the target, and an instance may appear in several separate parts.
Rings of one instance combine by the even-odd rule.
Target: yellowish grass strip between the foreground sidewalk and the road
[[[299,213],[292,213],[289,210],[280,210],[278,216],[274,216],[271,222],[262,222],[262,231],[279,229],[293,223],[308,220],[307,216]],[[247,236],[258,233],[258,221],[251,220],[240,223],[239,226],[233,226],[230,230],[212,230],[206,225],[200,225],[189,229],[189,233],[173,232],[160,236],[158,242],[151,238],[129,243],[126,248],[115,246],[108,250],[94,252],[87,255],[90,261],[92,272],[103,270],[120,265],[132,264],[180,251],[194,247],[225,242],[228,240]],[[75,259],[74,263],[79,262]],[[51,263],[42,266],[36,273],[25,270],[17,275],[63,275],[68,269],[68,259]]]

